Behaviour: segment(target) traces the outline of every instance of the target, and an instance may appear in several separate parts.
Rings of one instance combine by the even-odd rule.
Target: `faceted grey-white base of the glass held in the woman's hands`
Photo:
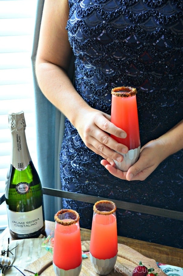
[[[118,152],[119,153],[119,152]],[[127,172],[127,170],[137,162],[139,154],[140,154],[140,146],[137,149],[129,150],[126,154],[123,155],[123,161],[117,162],[114,160],[114,163],[116,164],[117,168],[120,169],[123,172]]]

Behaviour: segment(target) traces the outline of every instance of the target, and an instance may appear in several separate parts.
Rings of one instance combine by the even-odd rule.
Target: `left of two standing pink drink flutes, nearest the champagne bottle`
[[[62,209],[55,215],[53,268],[57,276],[78,276],[82,267],[79,214]]]

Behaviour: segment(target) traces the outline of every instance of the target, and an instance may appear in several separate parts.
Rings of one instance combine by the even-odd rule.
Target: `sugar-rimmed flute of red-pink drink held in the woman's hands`
[[[140,133],[137,113],[137,90],[133,87],[116,87],[112,89],[111,122],[127,133],[126,138],[111,135],[118,143],[128,147],[127,154],[123,155],[123,161],[114,160],[117,168],[127,171],[133,165],[140,154]]]

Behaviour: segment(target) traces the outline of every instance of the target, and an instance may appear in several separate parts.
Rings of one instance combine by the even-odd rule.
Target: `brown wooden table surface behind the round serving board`
[[[45,235],[48,236],[54,230],[54,227],[55,222],[45,221]],[[81,228],[81,241],[90,240],[90,235],[91,230]],[[6,228],[0,235],[0,241],[8,239],[8,237],[10,237],[9,228]],[[13,239],[10,237],[10,240]],[[118,236],[118,243],[125,244],[144,256],[156,260],[156,262],[183,267],[183,249],[121,236]]]

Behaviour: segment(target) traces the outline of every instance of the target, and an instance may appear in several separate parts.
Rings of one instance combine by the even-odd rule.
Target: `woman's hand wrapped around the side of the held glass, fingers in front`
[[[125,138],[127,134],[110,122],[110,115],[89,106],[87,110],[84,107],[83,111],[81,108],[78,112],[74,120],[74,126],[85,145],[96,154],[109,160],[112,165],[114,163],[113,159],[118,162],[123,160],[123,156],[115,151],[127,153],[128,148],[115,141],[110,137],[110,134],[120,138]]]

